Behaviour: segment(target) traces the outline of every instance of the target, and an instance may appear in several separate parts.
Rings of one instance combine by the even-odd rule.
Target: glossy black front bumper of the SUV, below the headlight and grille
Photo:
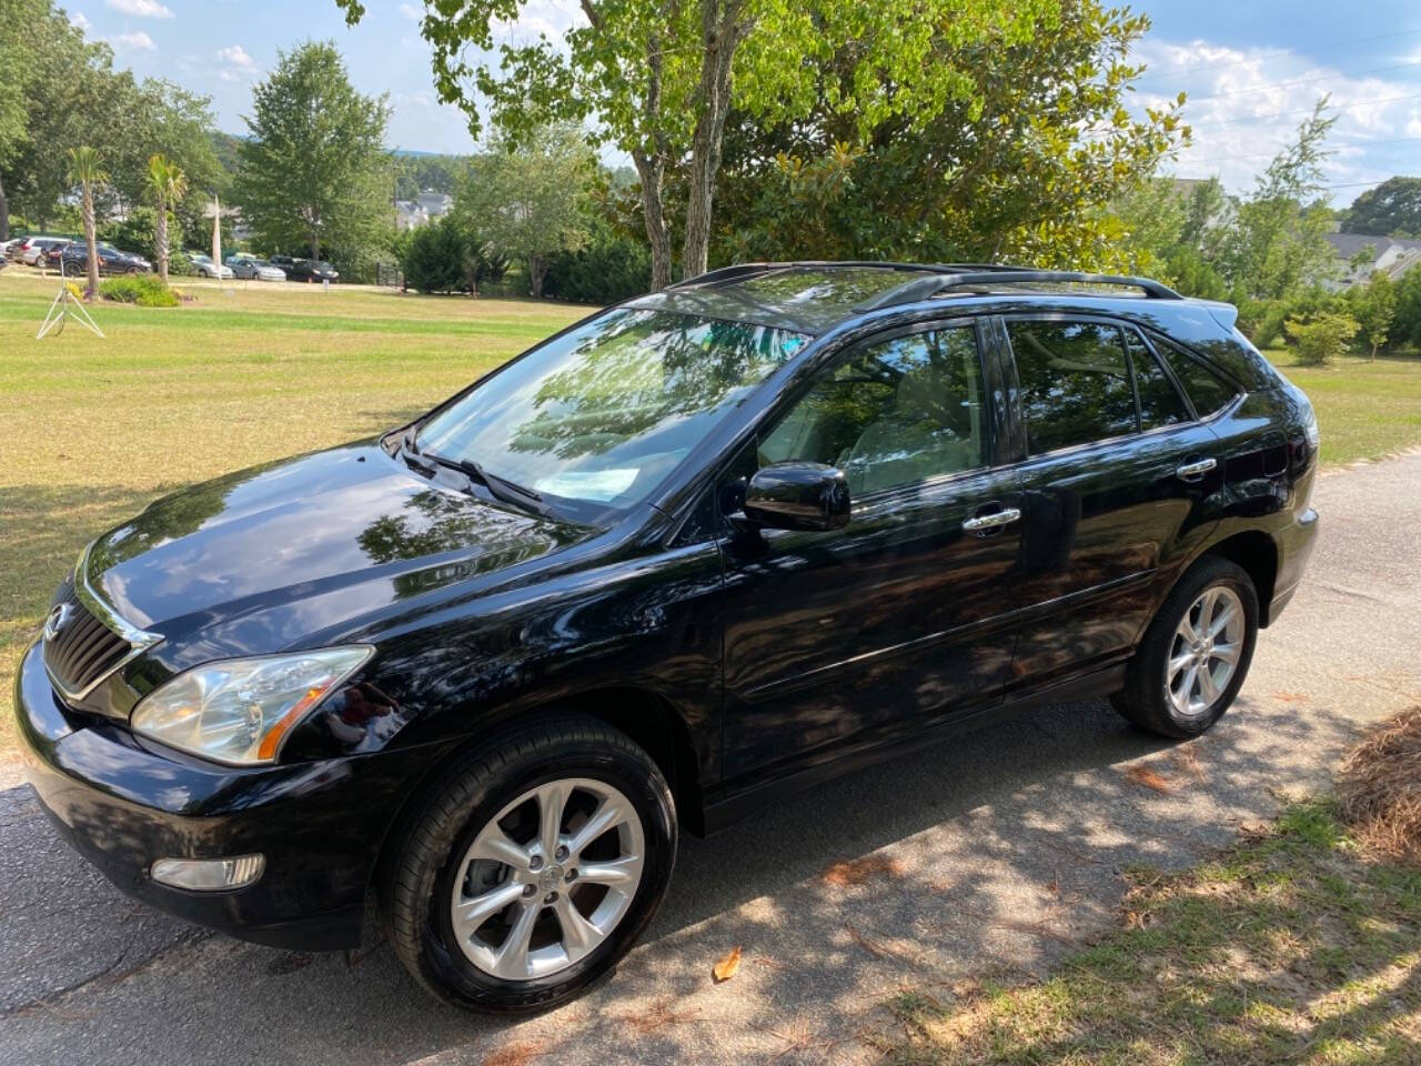
[[[365,893],[428,748],[234,769],[159,755],[128,729],[55,699],[40,645],[16,678],[20,746],[40,802],[122,891],[188,921],[273,947],[360,944]],[[266,873],[229,891],[159,884],[155,858],[261,853]]]

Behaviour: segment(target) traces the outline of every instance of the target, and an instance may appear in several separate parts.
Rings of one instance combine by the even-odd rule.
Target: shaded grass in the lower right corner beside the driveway
[[[1131,877],[1125,927],[1053,976],[907,988],[870,1040],[899,1066],[1421,1062],[1421,870],[1364,854],[1330,800]]]

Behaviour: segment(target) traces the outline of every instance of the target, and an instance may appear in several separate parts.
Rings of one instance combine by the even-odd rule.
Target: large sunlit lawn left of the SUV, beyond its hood
[[[153,497],[406,421],[587,314],[566,304],[294,286],[192,286],[99,303],[34,334],[57,289],[0,271],[0,758],[11,687],[80,549]]]

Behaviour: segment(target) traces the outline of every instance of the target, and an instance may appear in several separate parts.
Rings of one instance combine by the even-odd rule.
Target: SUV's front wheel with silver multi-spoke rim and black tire
[[[395,954],[441,999],[497,1013],[556,1006],[611,971],[676,851],[655,762],[583,715],[480,743],[396,833],[381,878]]]

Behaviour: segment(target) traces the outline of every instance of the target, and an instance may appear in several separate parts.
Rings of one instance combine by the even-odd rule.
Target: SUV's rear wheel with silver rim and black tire
[[[1110,702],[1135,725],[1188,739],[1238,695],[1258,640],[1258,593],[1248,573],[1205,556],[1165,597]]]

